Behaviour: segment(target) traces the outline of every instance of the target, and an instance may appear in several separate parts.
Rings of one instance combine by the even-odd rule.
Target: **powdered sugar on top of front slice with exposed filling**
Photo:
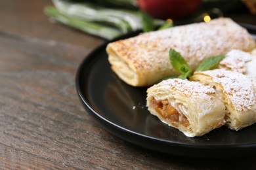
[[[188,80],[182,80],[180,78],[173,78],[168,80],[163,80],[159,84],[154,85],[154,88],[171,88],[173,91],[179,91],[186,96],[191,96],[192,94],[211,94],[215,93],[215,90],[210,86],[204,86],[200,82],[192,82]]]

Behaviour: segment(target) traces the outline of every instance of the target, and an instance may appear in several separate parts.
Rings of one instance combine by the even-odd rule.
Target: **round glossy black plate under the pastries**
[[[249,31],[255,34],[255,30]],[[146,88],[129,86],[112,73],[106,44],[108,42],[83,60],[76,77],[81,103],[105,129],[130,143],[179,156],[219,158],[245,156],[256,151],[256,124],[240,131],[223,126],[194,138],[163,124],[145,106]]]

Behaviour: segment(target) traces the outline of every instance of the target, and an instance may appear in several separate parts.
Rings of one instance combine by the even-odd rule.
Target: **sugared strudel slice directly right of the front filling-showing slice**
[[[226,126],[239,130],[256,122],[255,80],[249,76],[215,69],[196,72],[191,77],[216,89],[226,106]]]

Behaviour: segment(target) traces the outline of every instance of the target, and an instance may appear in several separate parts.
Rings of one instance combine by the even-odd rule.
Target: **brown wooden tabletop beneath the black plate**
[[[127,143],[85,112],[79,63],[103,39],[49,22],[50,0],[0,1],[0,169],[239,169],[256,156],[196,159]],[[255,24],[249,15],[234,20]]]

